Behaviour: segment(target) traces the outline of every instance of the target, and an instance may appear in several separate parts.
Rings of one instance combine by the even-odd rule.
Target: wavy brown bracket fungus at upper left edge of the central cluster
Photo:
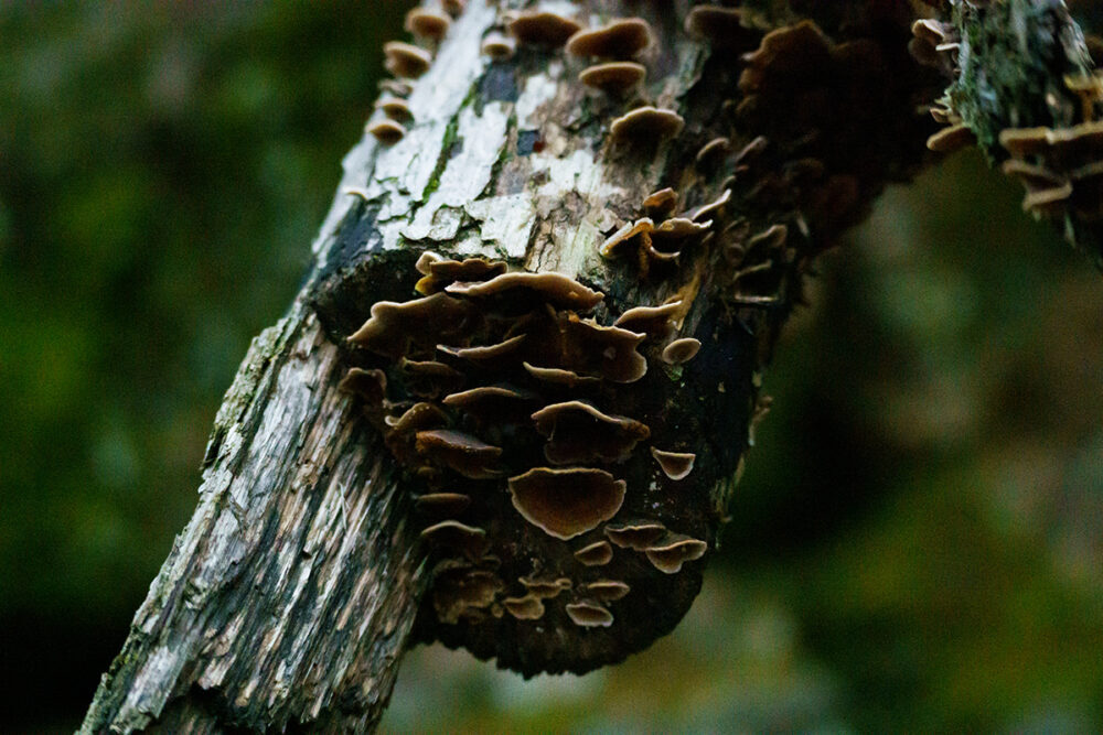
[[[472,314],[470,304],[445,293],[404,303],[378,301],[372,306],[372,317],[349,337],[349,342],[398,359],[409,355],[415,341],[436,346],[441,339],[461,332]]]

